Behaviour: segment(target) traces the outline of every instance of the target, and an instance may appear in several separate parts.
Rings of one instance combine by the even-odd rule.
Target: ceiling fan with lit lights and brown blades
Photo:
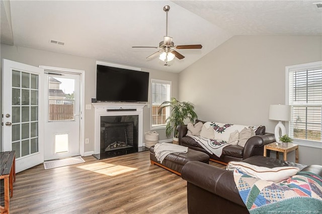
[[[146,57],[146,59],[151,59],[159,55],[159,59],[164,61],[167,65],[168,62],[172,61],[175,57],[178,59],[183,59],[185,56],[180,54],[176,49],[201,49],[202,45],[175,45],[172,41],[172,37],[168,36],[168,12],[170,10],[170,6],[166,5],[163,10],[167,13],[166,17],[166,36],[164,37],[164,41],[159,42],[158,47],[149,47],[149,46],[133,46],[132,48],[157,48],[159,49],[155,53]]]

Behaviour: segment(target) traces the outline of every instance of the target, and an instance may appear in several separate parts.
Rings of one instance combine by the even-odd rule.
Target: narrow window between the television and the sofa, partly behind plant
[[[170,116],[170,107],[164,108],[160,116],[157,112],[162,102],[170,101],[171,81],[152,79],[151,82],[151,128],[164,128],[167,118]]]

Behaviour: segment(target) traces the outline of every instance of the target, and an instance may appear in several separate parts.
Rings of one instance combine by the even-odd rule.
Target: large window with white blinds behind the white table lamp
[[[286,77],[290,137],[296,143],[322,148],[322,62],[287,66]]]

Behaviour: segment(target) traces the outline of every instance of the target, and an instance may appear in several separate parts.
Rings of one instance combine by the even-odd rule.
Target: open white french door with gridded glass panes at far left
[[[16,172],[43,162],[44,69],[3,59],[3,151],[16,151]]]

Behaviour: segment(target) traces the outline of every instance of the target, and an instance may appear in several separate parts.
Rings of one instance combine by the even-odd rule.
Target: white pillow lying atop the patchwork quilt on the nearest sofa
[[[255,166],[244,162],[230,161],[227,165],[227,170],[233,171],[234,169],[237,169],[238,171],[248,174],[252,177],[273,182],[285,180],[295,175],[300,170],[294,166],[268,168],[263,166]]]

